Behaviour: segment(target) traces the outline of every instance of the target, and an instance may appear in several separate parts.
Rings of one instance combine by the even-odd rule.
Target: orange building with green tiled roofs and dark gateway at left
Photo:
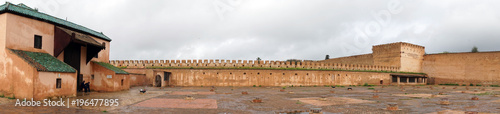
[[[101,32],[6,2],[0,5],[0,94],[75,96],[83,80],[95,91],[128,89],[128,73],[108,63],[110,42]]]

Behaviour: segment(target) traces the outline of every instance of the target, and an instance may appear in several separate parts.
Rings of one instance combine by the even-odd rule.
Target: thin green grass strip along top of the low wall
[[[163,67],[150,66],[147,69],[248,69],[248,70],[319,70],[319,71],[352,71],[352,72],[380,72],[380,73],[401,73],[401,74],[420,74],[420,72],[395,72],[395,71],[376,71],[376,70],[343,70],[343,69],[308,69],[308,68],[262,68],[262,67]]]

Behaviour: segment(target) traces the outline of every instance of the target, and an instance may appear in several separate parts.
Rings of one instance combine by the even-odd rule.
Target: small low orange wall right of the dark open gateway
[[[90,89],[94,91],[120,91],[129,89],[128,75],[115,74],[98,64],[90,63],[94,68],[94,79],[90,79]],[[107,76],[110,75],[111,78]],[[123,80],[123,83],[122,83]]]

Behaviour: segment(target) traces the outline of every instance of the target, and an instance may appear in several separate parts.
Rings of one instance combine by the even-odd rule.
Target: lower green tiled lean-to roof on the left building
[[[20,58],[23,58],[31,66],[35,67],[37,71],[43,72],[76,72],[73,67],[60,61],[48,53],[29,52],[21,50],[13,50]]]

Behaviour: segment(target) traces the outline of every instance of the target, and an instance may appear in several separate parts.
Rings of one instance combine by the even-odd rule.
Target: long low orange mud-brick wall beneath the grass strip
[[[161,86],[323,86],[390,84],[390,73],[316,70],[148,69],[148,80],[160,76]],[[147,71],[150,72],[150,71]],[[170,79],[164,80],[164,72]],[[151,82],[153,83],[153,82]]]

